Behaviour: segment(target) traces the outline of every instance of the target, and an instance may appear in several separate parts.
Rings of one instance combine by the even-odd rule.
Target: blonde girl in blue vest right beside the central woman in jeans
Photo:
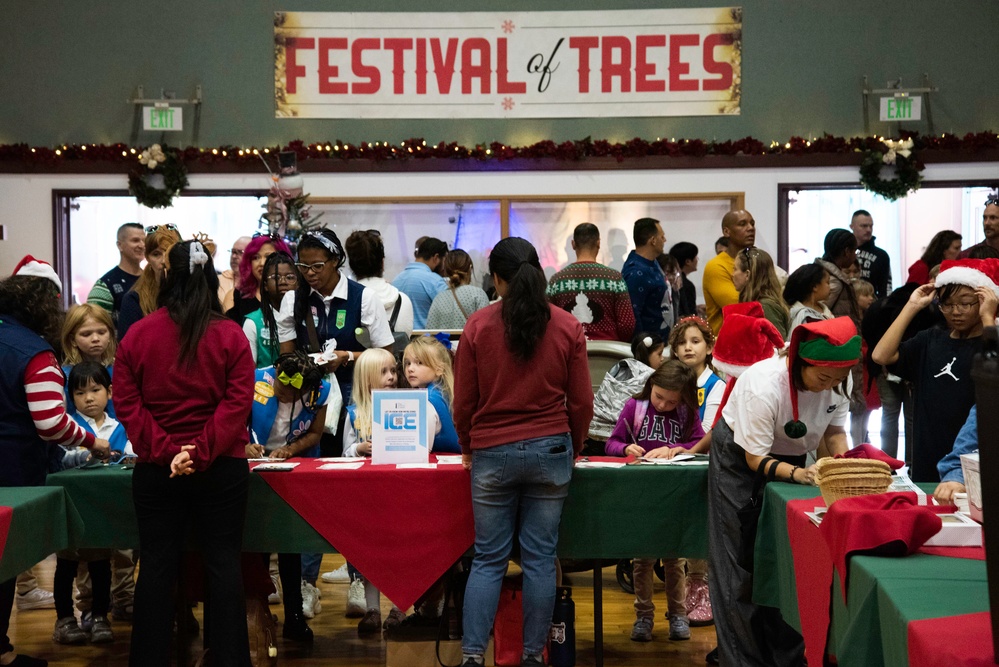
[[[436,338],[420,336],[406,346],[402,364],[409,386],[427,390],[430,406],[437,415],[438,429],[431,449],[438,453],[460,454],[458,433],[451,418],[454,397],[451,353]]]

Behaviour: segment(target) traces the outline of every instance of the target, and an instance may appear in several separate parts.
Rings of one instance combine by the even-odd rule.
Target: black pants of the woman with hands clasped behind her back
[[[142,568],[135,588],[131,667],[167,667],[172,655],[177,573],[188,529],[205,566],[206,628],[213,667],[249,667],[240,553],[249,469],[221,457],[204,472],[170,479],[169,467],[140,463],[132,477]],[[207,634],[207,633],[206,633]]]

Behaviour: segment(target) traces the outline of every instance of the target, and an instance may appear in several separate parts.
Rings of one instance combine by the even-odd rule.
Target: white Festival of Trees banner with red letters
[[[278,118],[738,114],[742,8],[274,17]]]

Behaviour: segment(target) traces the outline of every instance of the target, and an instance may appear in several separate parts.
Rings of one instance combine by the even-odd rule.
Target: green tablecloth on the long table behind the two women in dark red
[[[707,466],[577,468],[562,514],[564,558],[706,558]],[[137,547],[132,474],[114,466],[49,475],[86,526],[80,547]],[[331,508],[332,511],[337,511]],[[260,477],[250,475],[246,551],[329,553],[333,547]]]

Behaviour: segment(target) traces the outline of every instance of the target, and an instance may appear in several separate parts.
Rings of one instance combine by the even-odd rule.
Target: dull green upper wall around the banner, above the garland
[[[701,0],[17,0],[0,28],[0,144],[128,141],[135,86],[204,87],[201,145],[293,139],[510,144],[585,136],[764,141],[863,132],[861,80],[929,73],[937,132],[999,130],[999,18],[982,0],[743,0],[742,114],[542,120],[289,120],[273,110],[273,12],[565,11],[722,7]],[[877,123],[872,130],[890,132]],[[187,112],[185,112],[187,116]],[[189,126],[189,116],[185,125]],[[925,131],[925,123],[912,129]],[[157,138],[140,133],[139,141]],[[185,131],[174,143],[189,144]]]

